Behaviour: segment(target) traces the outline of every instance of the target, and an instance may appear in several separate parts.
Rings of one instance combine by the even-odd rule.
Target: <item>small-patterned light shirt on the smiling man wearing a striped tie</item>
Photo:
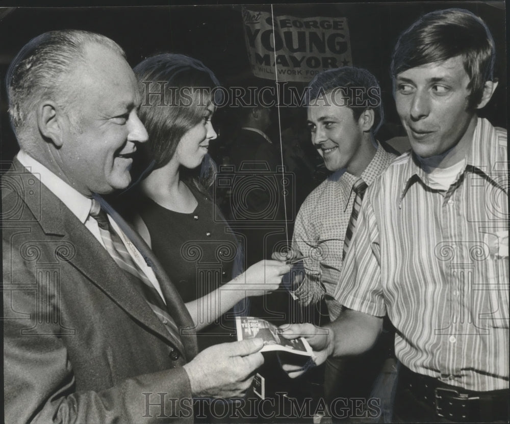
[[[361,178],[370,186],[396,157],[377,143],[377,151]],[[294,225],[292,247],[307,257],[303,261],[305,278],[294,294],[304,305],[329,295],[326,304],[331,320],[341,311],[333,295],[340,280],[344,237],[355,199],[352,186],[359,178],[345,170],[330,175],[308,195]]]

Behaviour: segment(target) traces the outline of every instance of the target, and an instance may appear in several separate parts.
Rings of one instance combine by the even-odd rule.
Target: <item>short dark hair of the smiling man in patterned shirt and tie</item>
[[[366,109],[374,111],[372,134],[384,121],[381,91],[374,75],[362,68],[343,66],[318,73],[308,85],[307,106],[310,102],[330,92],[341,90],[345,106],[352,110],[354,119],[360,119]]]

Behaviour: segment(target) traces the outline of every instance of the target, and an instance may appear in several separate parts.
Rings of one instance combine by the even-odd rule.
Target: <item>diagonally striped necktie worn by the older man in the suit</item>
[[[106,212],[101,209],[101,205],[95,199],[92,199],[90,216],[97,221],[101,239],[103,239],[106,250],[112,259],[122,270],[129,272],[131,275],[136,277],[136,289],[141,292],[152,311],[154,311],[161,322],[165,325],[168,332],[173,336],[173,338],[175,338],[178,345],[177,348],[179,348],[181,352],[184,352],[181,338],[179,336],[179,328],[177,328],[175,321],[168,313],[166,305],[158,293],[158,290],[156,290],[154,285],[150,282],[145,273],[140,269],[138,264],[127,251],[124,243],[122,243],[122,240],[120,239],[120,236],[110,225]]]

